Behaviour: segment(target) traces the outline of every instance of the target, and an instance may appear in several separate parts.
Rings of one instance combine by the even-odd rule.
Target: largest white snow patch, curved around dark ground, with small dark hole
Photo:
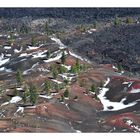
[[[120,102],[111,102],[108,99],[106,99],[105,94],[106,92],[109,91],[109,88],[101,88],[101,90],[99,91],[99,95],[98,98],[100,99],[101,103],[103,104],[104,107],[104,111],[117,111],[117,110],[121,110],[127,107],[131,107],[134,106],[135,104],[137,104],[137,102],[132,102],[129,103],[127,105],[125,105],[123,102],[126,100],[126,98],[123,98]],[[112,109],[108,109],[109,106],[112,106]]]

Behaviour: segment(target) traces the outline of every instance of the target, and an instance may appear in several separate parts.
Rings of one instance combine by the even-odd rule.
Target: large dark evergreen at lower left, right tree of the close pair
[[[38,95],[37,95],[37,88],[36,86],[32,85],[30,87],[30,102],[32,105],[34,105],[37,101]]]

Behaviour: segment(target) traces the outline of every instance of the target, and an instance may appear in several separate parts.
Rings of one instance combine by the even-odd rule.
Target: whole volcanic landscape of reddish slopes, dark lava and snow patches
[[[140,9],[0,15],[0,132],[140,132]]]

